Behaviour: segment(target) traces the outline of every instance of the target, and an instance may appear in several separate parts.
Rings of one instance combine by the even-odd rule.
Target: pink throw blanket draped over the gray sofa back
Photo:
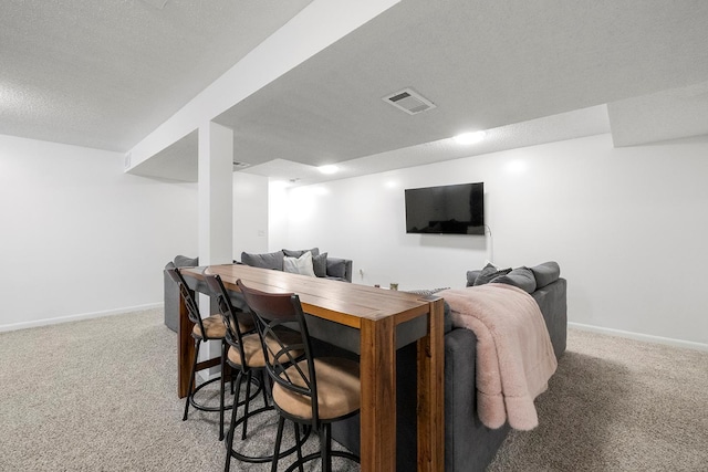
[[[539,424],[533,405],[558,361],[539,305],[512,285],[490,283],[439,292],[452,325],[477,336],[477,411],[488,428]]]

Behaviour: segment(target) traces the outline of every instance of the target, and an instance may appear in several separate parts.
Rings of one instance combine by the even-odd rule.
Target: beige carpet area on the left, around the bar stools
[[[218,413],[192,409],[181,421],[176,353],[162,310],[0,334],[0,471],[223,470]],[[254,439],[240,450],[271,453],[277,418],[254,418]],[[292,443],[291,426],[287,433]],[[317,448],[315,434],[304,452]],[[235,461],[231,470],[270,464]]]

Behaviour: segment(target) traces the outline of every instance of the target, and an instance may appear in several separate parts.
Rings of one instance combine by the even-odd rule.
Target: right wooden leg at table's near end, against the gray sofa
[[[442,298],[430,302],[428,335],[418,339],[418,471],[445,469],[445,342]]]

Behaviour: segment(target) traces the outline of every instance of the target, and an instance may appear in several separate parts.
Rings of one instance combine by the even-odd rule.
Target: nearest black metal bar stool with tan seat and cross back
[[[356,415],[360,410],[358,363],[342,357],[313,356],[298,295],[249,289],[241,280],[237,281],[237,285],[261,336],[266,369],[273,382],[273,403],[280,413],[271,470],[278,470],[278,452],[285,419],[294,423],[295,437],[299,437],[299,424],[320,432],[320,451],[303,458],[301,449],[298,449],[298,461],[287,471],[295,468],[302,471],[302,464],[317,458],[322,460],[323,472],[332,470],[332,457],[358,462],[358,458],[351,452],[333,451],[331,436],[332,422]]]

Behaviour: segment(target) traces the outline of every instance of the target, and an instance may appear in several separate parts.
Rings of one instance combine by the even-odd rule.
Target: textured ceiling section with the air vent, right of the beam
[[[707,24],[706,1],[409,0],[217,122],[239,160],[348,160],[704,81]],[[381,99],[408,86],[437,107]]]

